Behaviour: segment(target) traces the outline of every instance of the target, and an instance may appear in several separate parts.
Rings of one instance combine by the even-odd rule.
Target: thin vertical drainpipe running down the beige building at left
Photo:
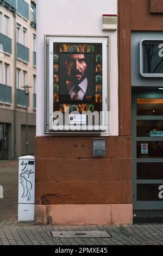
[[[17,1],[16,1],[16,9],[14,12],[14,74],[15,74],[15,86],[14,86],[14,159],[17,158],[17,88],[16,88],[16,62],[17,62],[17,43],[16,43],[16,10],[17,10]]]

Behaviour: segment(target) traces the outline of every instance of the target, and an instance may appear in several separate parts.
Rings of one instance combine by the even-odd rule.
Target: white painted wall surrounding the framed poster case
[[[44,34],[111,36],[111,135],[118,135],[117,32],[102,31],[103,14],[117,14],[117,0],[37,0],[37,136],[44,135]]]

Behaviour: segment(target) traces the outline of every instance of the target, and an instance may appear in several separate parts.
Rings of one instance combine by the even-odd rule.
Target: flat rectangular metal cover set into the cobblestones
[[[106,231],[52,231],[53,238],[57,237],[111,237]]]

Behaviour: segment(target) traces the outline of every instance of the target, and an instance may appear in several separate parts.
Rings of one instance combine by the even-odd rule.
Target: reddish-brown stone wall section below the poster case
[[[93,157],[93,137],[35,138],[35,203],[131,203],[131,137],[106,138]]]

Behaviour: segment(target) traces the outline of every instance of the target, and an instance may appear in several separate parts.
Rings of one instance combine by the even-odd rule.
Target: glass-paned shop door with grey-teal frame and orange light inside
[[[163,210],[163,93],[134,93],[132,136],[133,209]]]

